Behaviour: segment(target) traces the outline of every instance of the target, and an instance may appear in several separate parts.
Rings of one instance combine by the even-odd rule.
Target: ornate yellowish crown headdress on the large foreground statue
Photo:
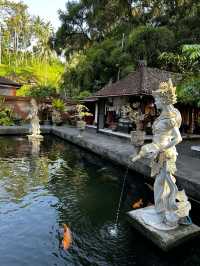
[[[159,96],[165,104],[175,104],[177,102],[176,87],[173,86],[172,80],[161,82],[159,89],[153,91],[153,96]]]

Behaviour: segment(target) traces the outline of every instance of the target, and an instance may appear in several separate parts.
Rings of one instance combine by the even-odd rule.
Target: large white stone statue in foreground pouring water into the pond
[[[178,191],[174,173],[176,171],[176,145],[182,141],[180,135],[181,115],[174,108],[176,88],[172,81],[163,82],[153,92],[155,104],[161,110],[153,124],[152,143],[144,145],[132,161],[151,159],[151,175],[155,176],[155,206],[144,209],[143,221],[159,230],[175,229],[179,224],[190,224],[191,204],[184,191]]]

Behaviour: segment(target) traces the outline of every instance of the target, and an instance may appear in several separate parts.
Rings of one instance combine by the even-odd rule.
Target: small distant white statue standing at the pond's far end
[[[29,135],[29,139],[37,138],[37,139],[42,139],[43,136],[40,135],[40,120],[38,117],[38,106],[37,102],[35,99],[31,99],[31,112],[28,115],[27,119],[31,120],[31,130]]]

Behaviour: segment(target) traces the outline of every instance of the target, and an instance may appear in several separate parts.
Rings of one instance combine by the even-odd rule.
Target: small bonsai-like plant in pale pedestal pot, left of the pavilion
[[[77,122],[76,122],[76,126],[79,129],[79,137],[82,136],[82,132],[85,130],[86,127],[86,122],[84,121],[84,118],[86,116],[92,116],[91,113],[89,113],[89,109],[82,104],[78,104],[76,105],[76,115],[77,117]]]

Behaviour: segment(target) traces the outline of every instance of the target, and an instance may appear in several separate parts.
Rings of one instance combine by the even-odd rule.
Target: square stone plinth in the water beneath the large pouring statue
[[[144,209],[147,208],[149,207]],[[143,209],[138,209],[128,212],[128,221],[135,229],[163,251],[168,251],[196,236],[200,236],[200,227],[195,224],[189,226],[179,225],[177,229],[170,231],[157,230],[143,222],[139,215],[142,210]]]

